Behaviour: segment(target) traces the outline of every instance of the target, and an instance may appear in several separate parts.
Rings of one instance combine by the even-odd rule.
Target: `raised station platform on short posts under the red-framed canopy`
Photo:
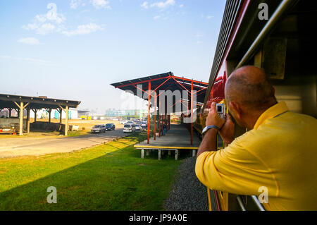
[[[134,145],[138,150],[141,150],[141,157],[144,158],[144,150],[149,155],[149,150],[158,150],[159,160],[161,160],[162,150],[175,151],[175,160],[178,160],[180,150],[192,150],[192,156],[196,156],[200,140],[197,135],[193,134],[193,145],[190,145],[190,133],[185,126],[182,125],[170,125],[170,130],[165,136],[150,138],[149,144],[147,140],[139,142]]]

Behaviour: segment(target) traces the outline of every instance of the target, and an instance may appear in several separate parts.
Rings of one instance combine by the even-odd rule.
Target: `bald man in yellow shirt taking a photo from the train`
[[[267,190],[268,210],[317,210],[317,120],[289,111],[274,94],[261,68],[244,66],[230,75],[228,109],[249,131],[234,140],[232,119],[220,118],[213,103],[196,175],[212,190],[238,195]],[[216,152],[218,131],[228,147]]]

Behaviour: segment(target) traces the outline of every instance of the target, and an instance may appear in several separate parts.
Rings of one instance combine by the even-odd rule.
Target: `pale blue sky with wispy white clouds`
[[[172,71],[208,82],[225,0],[0,0],[0,93],[118,109],[110,84]]]

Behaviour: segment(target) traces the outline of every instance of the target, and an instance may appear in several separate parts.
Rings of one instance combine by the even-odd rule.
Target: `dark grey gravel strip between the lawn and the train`
[[[189,157],[178,166],[178,176],[165,202],[167,211],[208,211],[207,188],[195,174],[195,163],[196,157]]]

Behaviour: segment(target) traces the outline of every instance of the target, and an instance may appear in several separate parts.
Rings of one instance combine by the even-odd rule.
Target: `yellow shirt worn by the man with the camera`
[[[212,190],[268,188],[268,210],[317,210],[317,120],[275,104],[228,147],[200,154],[195,172]]]

